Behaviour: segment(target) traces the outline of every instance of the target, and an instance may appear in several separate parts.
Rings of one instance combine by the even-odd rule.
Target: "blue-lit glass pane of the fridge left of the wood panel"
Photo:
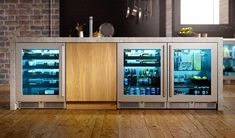
[[[59,50],[23,49],[23,95],[59,94]]]

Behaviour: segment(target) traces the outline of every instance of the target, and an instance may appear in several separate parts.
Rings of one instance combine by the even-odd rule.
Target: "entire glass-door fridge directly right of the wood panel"
[[[118,44],[118,108],[166,107],[164,45]]]

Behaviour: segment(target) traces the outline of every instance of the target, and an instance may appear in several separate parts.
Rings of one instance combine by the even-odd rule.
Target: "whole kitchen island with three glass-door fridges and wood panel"
[[[218,109],[222,38],[17,38],[11,109]]]

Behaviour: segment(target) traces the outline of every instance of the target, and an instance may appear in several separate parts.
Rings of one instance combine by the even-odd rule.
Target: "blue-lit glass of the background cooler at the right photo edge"
[[[235,45],[224,45],[224,76],[235,76]]]

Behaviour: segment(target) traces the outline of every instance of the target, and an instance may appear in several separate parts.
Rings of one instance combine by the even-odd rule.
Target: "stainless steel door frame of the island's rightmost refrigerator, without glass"
[[[217,102],[217,43],[168,43],[169,102]],[[174,49],[211,49],[211,95],[174,95]]]

